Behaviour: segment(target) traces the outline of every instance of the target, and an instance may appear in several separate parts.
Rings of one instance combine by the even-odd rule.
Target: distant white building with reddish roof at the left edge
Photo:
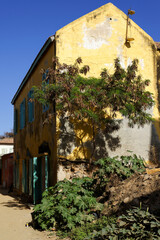
[[[2,156],[8,153],[13,153],[13,138],[0,139],[0,184],[2,182]]]

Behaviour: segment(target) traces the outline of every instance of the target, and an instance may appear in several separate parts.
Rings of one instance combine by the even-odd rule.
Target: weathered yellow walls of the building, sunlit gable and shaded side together
[[[142,129],[135,127],[129,129],[127,121],[124,120],[122,128],[118,132],[121,137],[121,148],[115,154],[126,154],[127,150],[132,150],[137,155],[142,155],[146,160],[149,157],[153,139],[159,143],[160,128],[159,128],[159,111],[158,101],[159,92],[157,89],[157,53],[153,39],[145,33],[137,24],[130,20],[128,27],[128,37],[135,40],[131,42],[130,47],[126,46],[126,24],[127,16],[116,8],[113,4],[108,3],[95,11],[75,20],[62,29],[58,30],[55,35],[56,52],[54,51],[54,43],[47,49],[45,54],[41,57],[37,67],[32,72],[26,85],[23,87],[21,93],[18,95],[15,108],[20,110],[20,104],[24,97],[27,102],[27,94],[34,85],[40,85],[42,76],[40,74],[41,68],[47,69],[52,57],[56,55],[61,63],[74,63],[74,61],[81,57],[83,64],[90,66],[90,72],[87,75],[99,76],[103,68],[107,68],[110,73],[114,71],[114,59],[119,58],[121,65],[126,68],[133,59],[139,60],[139,72],[144,79],[150,79],[151,84],[148,90],[154,93],[156,104],[151,113],[155,118],[154,126],[149,125]],[[18,112],[18,119],[20,119]],[[27,105],[26,105],[27,116]],[[42,113],[42,106],[35,105],[35,120],[33,123],[28,123],[26,120],[26,128],[20,130],[20,123],[18,123],[18,133],[15,135],[15,156],[18,153],[20,162],[27,158],[27,149],[32,157],[38,155],[38,148],[44,142],[49,143],[51,149],[50,156],[50,185],[53,185],[57,180],[56,170],[56,141],[58,140],[58,154],[69,159],[75,158],[89,158],[90,157],[90,140],[91,129],[83,126],[81,129],[80,123],[66,122],[63,123],[66,130],[69,130],[69,135],[62,137],[58,133],[56,139],[55,125],[46,124],[44,120],[47,116]],[[62,127],[61,123],[60,126]],[[58,124],[59,125],[59,122]],[[74,138],[76,130],[77,138]],[[59,129],[57,129],[59,130]],[[63,129],[64,130],[64,129]],[[65,132],[63,132],[65,133]],[[116,140],[113,138],[112,140]],[[156,136],[156,138],[155,138]],[[81,140],[84,146],[81,145]],[[110,143],[106,143],[98,139],[101,148],[98,150],[97,157],[106,154],[105,149],[108,149]],[[84,154],[85,153],[85,154]],[[110,152],[108,151],[110,154]],[[22,166],[20,166],[20,176],[22,176]],[[21,182],[21,181],[20,181]],[[20,185],[21,190],[21,185]]]

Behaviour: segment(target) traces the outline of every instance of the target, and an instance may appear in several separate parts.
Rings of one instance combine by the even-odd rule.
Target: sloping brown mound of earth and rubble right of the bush
[[[141,206],[160,216],[160,171],[148,173],[134,174],[124,181],[116,181],[109,188],[106,186],[104,197],[108,196],[108,199],[102,214],[112,215],[133,206]]]

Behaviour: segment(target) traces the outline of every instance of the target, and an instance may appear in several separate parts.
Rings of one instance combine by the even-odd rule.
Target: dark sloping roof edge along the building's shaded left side
[[[42,55],[44,54],[44,52],[47,50],[47,48],[49,47],[50,43],[52,43],[55,39],[55,36],[51,36],[47,39],[47,41],[44,43],[43,47],[41,48],[41,50],[39,51],[39,53],[37,54],[35,60],[33,61],[31,67],[29,68],[26,76],[24,77],[23,81],[21,82],[16,94],[14,95],[11,103],[14,104],[20,91],[22,90],[23,86],[25,85],[25,83],[27,82],[28,78],[30,77],[31,73],[33,72],[34,68],[36,67],[38,61],[40,60],[40,58],[42,57]]]

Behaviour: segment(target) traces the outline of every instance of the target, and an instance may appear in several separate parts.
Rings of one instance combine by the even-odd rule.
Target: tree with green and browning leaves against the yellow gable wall
[[[60,64],[54,59],[53,66],[42,71],[45,78],[40,88],[34,87],[34,96],[42,104],[52,104],[56,116],[65,118],[67,115],[92,126],[92,158],[99,129],[113,122],[119,113],[128,119],[130,127],[150,123],[153,119],[147,109],[153,106],[154,100],[152,93],[146,90],[150,80],[138,75],[138,60],[133,60],[125,70],[116,59],[114,73],[103,69],[99,78],[86,77],[89,66],[80,67],[81,64],[81,58],[73,65]]]

